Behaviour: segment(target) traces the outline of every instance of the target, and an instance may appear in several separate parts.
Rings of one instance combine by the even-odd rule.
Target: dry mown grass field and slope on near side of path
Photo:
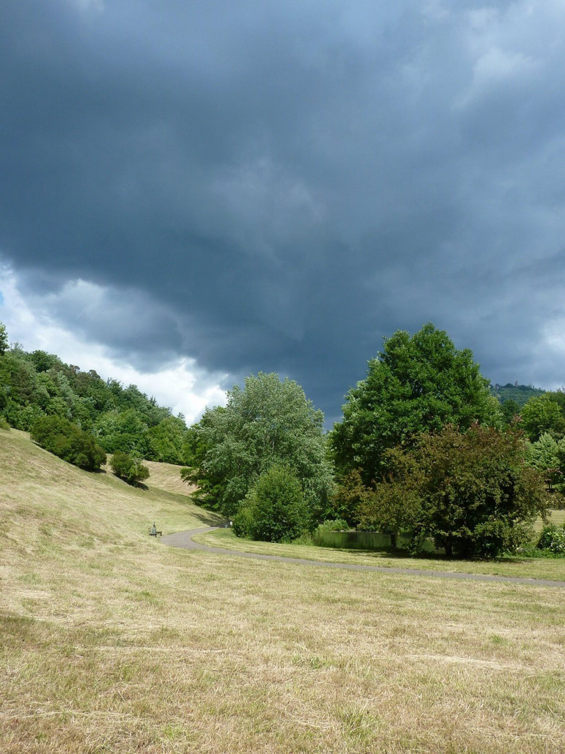
[[[2,754],[565,749],[565,590],[163,547],[212,516],[14,431],[0,500]]]

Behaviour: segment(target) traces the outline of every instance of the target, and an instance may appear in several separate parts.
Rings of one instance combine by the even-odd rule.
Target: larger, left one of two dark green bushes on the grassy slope
[[[106,461],[106,454],[93,435],[60,416],[38,419],[32,427],[31,436],[41,448],[89,471],[99,469]]]

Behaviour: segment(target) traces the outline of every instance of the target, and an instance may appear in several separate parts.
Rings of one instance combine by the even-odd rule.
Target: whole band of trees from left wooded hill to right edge
[[[304,541],[317,526],[348,527],[409,535],[414,552],[432,539],[449,556],[496,556],[527,547],[565,489],[565,393],[500,403],[472,352],[431,323],[383,340],[330,432],[276,374],[250,375],[227,399],[186,428],[134,385],[8,348],[0,328],[10,425],[86,468],[111,452],[130,481],[145,474],[141,458],[183,464],[197,501],[240,536]]]

